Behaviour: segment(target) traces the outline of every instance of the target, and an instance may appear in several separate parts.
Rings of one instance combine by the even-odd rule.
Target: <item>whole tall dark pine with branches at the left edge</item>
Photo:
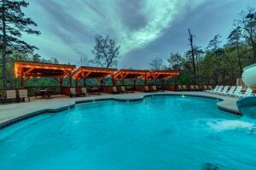
[[[32,19],[27,18],[21,8],[26,8],[29,3],[25,1],[1,0],[1,40],[2,40],[2,66],[3,66],[3,88],[6,88],[6,55],[8,50],[15,49],[23,53],[30,53],[36,47],[23,40],[22,32],[39,35],[39,31],[32,30],[29,26],[37,26]]]

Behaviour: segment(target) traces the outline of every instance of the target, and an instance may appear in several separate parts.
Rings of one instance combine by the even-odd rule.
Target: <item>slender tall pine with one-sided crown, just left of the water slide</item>
[[[237,54],[237,59],[238,59],[238,64],[239,64],[239,69],[240,69],[240,75],[242,74],[242,68],[241,68],[241,54],[240,54],[240,45],[241,45],[241,27],[238,26],[235,29],[233,29],[230,32],[230,36],[227,38],[228,43],[230,46],[236,48],[236,54]]]

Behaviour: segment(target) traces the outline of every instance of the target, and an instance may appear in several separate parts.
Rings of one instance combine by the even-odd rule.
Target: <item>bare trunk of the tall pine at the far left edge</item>
[[[3,27],[3,47],[2,47],[2,64],[3,64],[3,89],[6,89],[6,23],[5,23],[5,0],[2,0],[2,27]]]

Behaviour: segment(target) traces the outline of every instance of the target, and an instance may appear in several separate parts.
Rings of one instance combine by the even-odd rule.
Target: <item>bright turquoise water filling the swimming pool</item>
[[[0,169],[256,169],[256,126],[218,101],[102,101],[0,130]]]

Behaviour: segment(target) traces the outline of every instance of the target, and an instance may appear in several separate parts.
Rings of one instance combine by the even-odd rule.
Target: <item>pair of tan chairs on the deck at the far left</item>
[[[15,100],[15,102],[20,102],[22,100],[28,99],[30,101],[30,97],[27,93],[26,89],[19,90],[6,90],[3,94],[3,104],[6,104],[9,100]]]

